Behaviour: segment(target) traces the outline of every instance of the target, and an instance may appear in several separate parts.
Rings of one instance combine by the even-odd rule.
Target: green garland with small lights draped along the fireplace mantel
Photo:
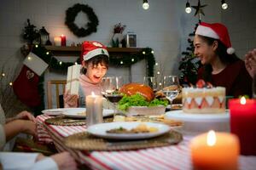
[[[58,59],[55,59],[54,55],[44,48],[44,46],[35,45],[32,48],[32,53],[38,55],[40,59],[43,59],[49,65],[49,69],[55,72],[67,71],[67,67],[74,65],[73,62],[62,62]],[[143,48],[142,52],[137,54],[127,54],[123,58],[116,58],[113,56],[109,57],[109,64],[114,66],[131,66],[138,61],[146,59],[147,62],[147,76],[154,76],[154,52],[152,48]],[[76,60],[80,64],[80,58]],[[36,115],[40,115],[41,111],[44,110],[44,74],[39,77],[38,92],[41,98],[41,105],[38,105],[34,109]]]

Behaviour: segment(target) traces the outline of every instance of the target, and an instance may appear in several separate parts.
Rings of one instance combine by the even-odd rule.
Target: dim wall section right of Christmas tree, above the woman
[[[229,10],[222,11],[222,21],[230,31],[232,46],[241,59],[256,48],[256,1],[232,1]]]

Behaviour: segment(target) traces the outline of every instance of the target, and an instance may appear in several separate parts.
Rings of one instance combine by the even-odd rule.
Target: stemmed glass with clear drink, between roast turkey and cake
[[[172,108],[172,101],[179,94],[179,82],[177,76],[165,76],[163,80],[163,94],[169,99]]]

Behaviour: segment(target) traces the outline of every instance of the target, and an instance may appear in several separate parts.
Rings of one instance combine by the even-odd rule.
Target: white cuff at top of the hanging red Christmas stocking
[[[26,56],[23,64],[30,68],[32,71],[34,71],[39,77],[48,67],[48,64],[45,63],[43,59],[40,59],[38,55],[33,54],[32,52],[30,52]]]

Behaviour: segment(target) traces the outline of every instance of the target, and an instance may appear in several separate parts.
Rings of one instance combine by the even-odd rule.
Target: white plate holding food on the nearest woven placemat
[[[131,128],[137,127],[139,124],[144,123],[148,127],[156,127],[158,128],[158,132],[155,133],[107,133],[106,131],[113,129],[124,127],[128,130]],[[104,139],[148,139],[156,136],[160,136],[161,134],[169,132],[171,127],[155,122],[107,122],[100,123],[96,125],[92,125],[87,128],[87,132],[91,133],[97,137],[101,137]]]

